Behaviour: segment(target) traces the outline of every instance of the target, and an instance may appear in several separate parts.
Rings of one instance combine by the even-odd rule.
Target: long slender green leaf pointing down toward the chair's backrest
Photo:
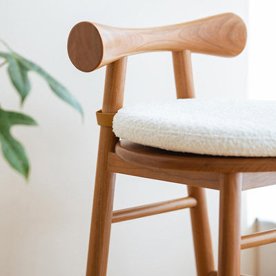
[[[59,98],[63,99],[63,101],[66,101],[66,103],[69,103],[70,106],[77,109],[81,113],[81,115],[83,115],[83,110],[77,99],[61,83],[59,83],[56,79],[50,76],[48,72],[43,70],[40,66],[33,63],[32,61],[29,61],[28,59],[25,59],[17,55],[16,53],[13,53],[13,55],[23,67],[27,68],[28,70],[37,72],[37,74],[43,77],[43,79],[48,82],[52,91],[55,92],[55,94]]]

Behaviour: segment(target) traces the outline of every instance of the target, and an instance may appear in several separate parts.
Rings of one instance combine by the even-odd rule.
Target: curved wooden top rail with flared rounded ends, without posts
[[[233,13],[218,14],[187,23],[155,28],[115,28],[83,21],[68,37],[68,55],[83,72],[150,51],[190,50],[208,55],[235,57],[246,44],[244,21]]]

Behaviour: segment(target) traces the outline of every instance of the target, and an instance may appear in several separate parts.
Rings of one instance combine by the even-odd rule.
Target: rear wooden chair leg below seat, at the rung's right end
[[[190,208],[193,227],[197,276],[207,276],[215,270],[210,227],[204,188],[188,186],[188,194],[197,199],[197,206]]]

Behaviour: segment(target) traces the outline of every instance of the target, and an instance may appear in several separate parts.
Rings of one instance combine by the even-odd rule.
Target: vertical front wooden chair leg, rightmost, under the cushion
[[[242,174],[221,174],[219,199],[219,268],[217,276],[239,276],[241,255]]]

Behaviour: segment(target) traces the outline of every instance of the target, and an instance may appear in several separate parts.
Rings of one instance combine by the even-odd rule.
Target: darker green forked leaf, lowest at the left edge
[[[10,128],[19,124],[28,126],[37,125],[37,123],[27,115],[5,111],[0,108],[0,141],[3,155],[10,166],[27,179],[30,167],[26,152],[23,146],[10,135]]]

